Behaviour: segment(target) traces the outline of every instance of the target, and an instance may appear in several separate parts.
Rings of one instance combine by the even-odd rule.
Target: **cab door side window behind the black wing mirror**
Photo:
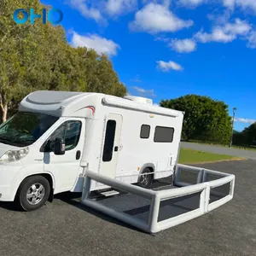
[[[76,148],[79,143],[81,127],[82,123],[80,121],[70,120],[63,123],[49,137],[44,152],[51,152],[54,150],[56,138],[64,139],[66,151]]]

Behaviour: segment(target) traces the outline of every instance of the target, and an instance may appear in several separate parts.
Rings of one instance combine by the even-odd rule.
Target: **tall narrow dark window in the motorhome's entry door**
[[[115,128],[116,128],[116,121],[108,120],[107,127],[106,127],[103,155],[102,155],[103,162],[109,162],[112,160]]]

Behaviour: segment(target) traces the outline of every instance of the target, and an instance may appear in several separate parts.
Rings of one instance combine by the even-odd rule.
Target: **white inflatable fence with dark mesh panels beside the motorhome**
[[[95,201],[90,197],[92,180],[122,193]],[[234,187],[234,175],[184,165],[177,165],[173,186],[154,190],[88,171],[81,203],[140,230],[157,233],[224,205],[233,198]]]

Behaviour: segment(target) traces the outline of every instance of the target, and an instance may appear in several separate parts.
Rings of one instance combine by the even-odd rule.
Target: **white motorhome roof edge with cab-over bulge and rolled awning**
[[[71,91],[38,90],[26,96],[20,102],[20,111],[48,113],[55,116],[72,116],[80,109],[107,105],[146,113],[162,114],[177,117],[182,112],[169,108],[161,108],[143,102],[133,102],[117,96],[100,93],[84,93]]]

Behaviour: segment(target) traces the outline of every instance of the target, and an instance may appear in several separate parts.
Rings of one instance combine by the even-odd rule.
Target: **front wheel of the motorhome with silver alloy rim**
[[[49,181],[43,176],[27,177],[16,194],[17,205],[26,212],[38,210],[49,199]]]

